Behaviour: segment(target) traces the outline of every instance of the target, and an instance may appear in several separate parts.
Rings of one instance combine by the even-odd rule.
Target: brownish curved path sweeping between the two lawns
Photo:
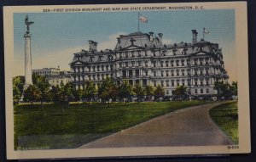
[[[209,115],[210,109],[222,103],[179,109],[80,148],[230,145],[230,139]]]

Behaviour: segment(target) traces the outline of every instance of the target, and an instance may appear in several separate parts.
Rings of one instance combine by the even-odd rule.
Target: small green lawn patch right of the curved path
[[[224,103],[210,110],[212,120],[226,133],[228,137],[238,144],[238,112],[237,102]]]

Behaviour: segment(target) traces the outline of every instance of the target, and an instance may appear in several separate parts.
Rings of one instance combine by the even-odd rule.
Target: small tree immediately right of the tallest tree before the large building
[[[123,99],[126,104],[126,98],[131,97],[132,86],[128,83],[128,81],[123,81],[122,84],[119,85],[119,99]]]

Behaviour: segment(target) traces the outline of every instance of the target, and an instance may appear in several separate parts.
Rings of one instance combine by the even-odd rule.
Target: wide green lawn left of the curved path
[[[71,104],[64,109],[53,103],[15,106],[15,148],[77,148],[80,145],[135,126],[159,115],[206,102]]]

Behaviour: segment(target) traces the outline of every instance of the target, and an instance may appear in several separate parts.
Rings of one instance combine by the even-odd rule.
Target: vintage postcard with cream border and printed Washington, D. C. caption
[[[3,15],[8,159],[250,153],[246,2]]]

